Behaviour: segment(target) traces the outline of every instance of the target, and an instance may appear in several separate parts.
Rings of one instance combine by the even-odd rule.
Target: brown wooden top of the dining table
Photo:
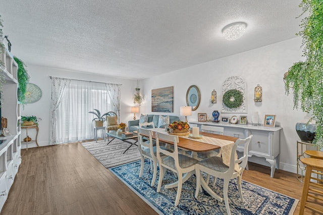
[[[135,131],[135,133],[137,133],[137,132]],[[200,134],[202,134],[203,136],[209,136],[209,137],[218,138],[218,139],[230,140],[230,141],[234,141],[234,142],[238,139],[237,137],[233,137],[233,136],[225,136],[225,135],[207,133],[207,132],[200,132]],[[147,135],[143,135],[143,136],[147,136]],[[155,139],[155,132],[152,132],[152,138]],[[173,142],[169,142],[169,141],[162,140],[162,139],[160,139],[160,141],[166,142],[167,144],[174,145]],[[220,146],[205,144],[204,142],[196,141],[193,138],[187,139],[187,138],[182,138],[181,136],[179,136],[178,147],[182,148],[182,149],[186,149],[188,151],[193,151],[193,152],[208,152],[208,151],[220,149]]]

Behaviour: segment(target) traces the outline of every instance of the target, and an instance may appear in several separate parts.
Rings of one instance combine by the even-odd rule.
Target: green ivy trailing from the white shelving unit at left
[[[25,63],[16,56],[14,56],[14,59],[18,63],[18,101],[20,101],[21,104],[25,104],[25,93],[27,84],[29,83],[29,75],[25,69]]]

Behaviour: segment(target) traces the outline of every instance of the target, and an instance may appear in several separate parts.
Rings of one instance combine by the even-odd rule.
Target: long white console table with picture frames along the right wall
[[[253,135],[249,144],[249,157],[256,156],[265,158],[271,165],[271,177],[274,177],[275,169],[279,169],[278,155],[280,153],[280,130],[281,127],[264,127],[254,125],[229,124],[221,122],[189,122],[196,124],[199,128],[201,125],[210,125],[224,128],[224,135],[246,138]],[[243,149],[238,146],[238,152]]]

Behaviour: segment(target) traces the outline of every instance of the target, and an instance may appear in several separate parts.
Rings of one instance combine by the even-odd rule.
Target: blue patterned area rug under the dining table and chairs
[[[191,176],[183,184],[179,205],[174,206],[176,188],[165,189],[165,184],[177,181],[172,172],[167,171],[160,192],[156,192],[158,177],[153,187],[150,187],[152,172],[149,160],[145,160],[142,178],[139,178],[140,161],[124,164],[109,169],[138,196],[147,202],[159,214],[227,214],[223,202],[211,197],[204,190],[194,197],[196,177]],[[204,176],[205,177],[205,176]],[[210,177],[210,184],[213,182]],[[223,181],[217,179],[213,190],[223,196]],[[297,199],[268,190],[255,184],[242,181],[242,192],[245,202],[241,203],[237,189],[237,180],[229,184],[229,204],[232,214],[293,214]]]

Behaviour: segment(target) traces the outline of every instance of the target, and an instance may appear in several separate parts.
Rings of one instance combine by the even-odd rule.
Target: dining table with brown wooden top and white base
[[[167,133],[167,131],[165,131],[164,128],[151,128],[152,130],[152,139],[156,138],[155,132],[161,132],[161,133]],[[135,131],[135,133],[137,133]],[[201,134],[202,136],[205,137],[211,137],[212,139],[214,138],[214,140],[227,140],[228,142],[235,142],[238,138],[237,137],[233,137],[233,136],[226,136],[226,135],[221,135],[221,134],[215,134],[215,133],[208,133],[208,132],[199,132],[199,134]],[[141,134],[142,136],[146,136],[144,134]],[[163,140],[163,139],[159,139],[159,141],[164,142],[165,144],[170,144],[170,145],[174,145],[174,142],[170,142],[167,140]],[[220,145],[214,145],[214,144],[207,144],[205,142],[202,142],[199,138],[194,138],[194,137],[190,137],[188,136],[179,136],[179,142],[177,144],[178,148],[184,150],[184,151],[191,151],[192,153],[192,157],[197,159],[197,153],[201,153],[201,152],[209,152],[209,151],[213,151],[213,150],[218,150],[220,149],[221,152],[221,146]],[[219,154],[221,155],[221,154]],[[230,151],[230,155],[231,155],[231,151]],[[229,156],[230,157],[230,156]],[[185,173],[183,176],[183,183],[185,181],[187,181],[191,175],[193,173],[189,172],[189,173]],[[178,185],[178,181],[165,185],[165,188],[169,189],[169,188],[174,188],[177,187]]]

